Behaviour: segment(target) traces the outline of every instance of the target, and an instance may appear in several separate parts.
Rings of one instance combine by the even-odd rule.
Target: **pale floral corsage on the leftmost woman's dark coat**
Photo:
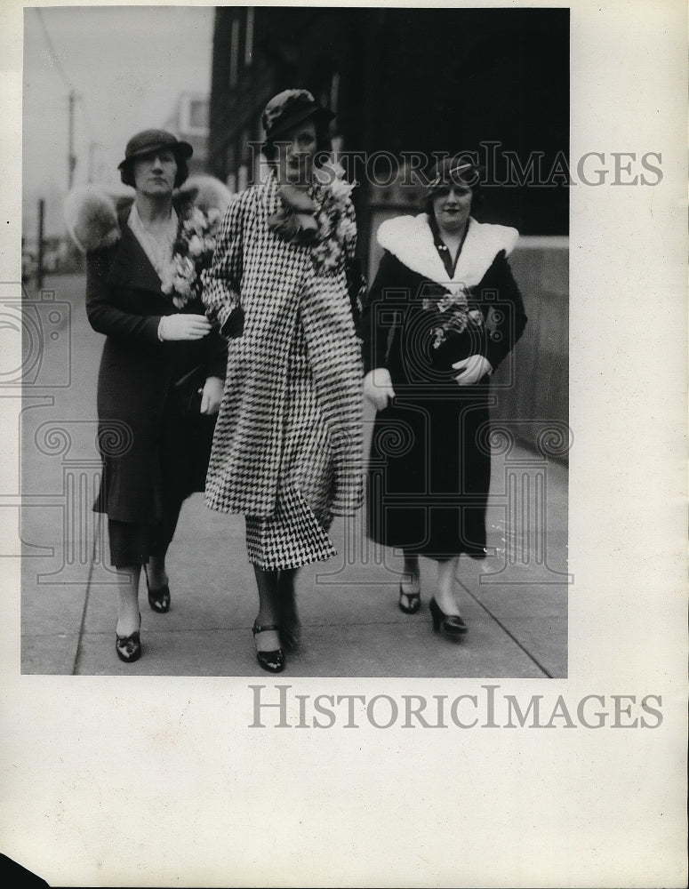
[[[211,265],[221,216],[216,207],[203,212],[196,206],[180,214],[172,262],[164,272],[161,285],[163,292],[172,296],[176,308],[184,308],[189,300],[201,295],[201,273]]]

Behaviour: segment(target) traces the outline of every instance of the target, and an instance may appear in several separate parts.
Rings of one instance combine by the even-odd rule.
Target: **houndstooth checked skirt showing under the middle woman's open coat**
[[[332,525],[332,445],[301,324],[289,364],[287,404],[275,512],[246,516],[249,560],[263,571],[299,568],[336,555]]]

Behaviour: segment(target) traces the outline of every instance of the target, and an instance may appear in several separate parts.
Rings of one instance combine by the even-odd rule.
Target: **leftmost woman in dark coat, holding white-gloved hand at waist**
[[[151,608],[170,607],[165,555],[182,501],[204,489],[227,360],[193,287],[198,263],[212,251],[212,238],[204,242],[208,220],[172,199],[190,154],[188,143],[164,131],[134,136],[120,164],[124,184],[136,189],[133,204],[118,220],[116,243],[88,255],[86,310],[93,329],[107,336],[98,378],[103,476],[94,509],[108,515],[120,575],[116,653],[127,662],[141,651],[141,565]],[[176,385],[189,372],[191,389]],[[194,388],[200,401],[188,406]]]

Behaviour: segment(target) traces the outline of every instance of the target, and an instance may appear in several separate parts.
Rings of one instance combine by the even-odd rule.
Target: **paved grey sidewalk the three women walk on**
[[[142,580],[143,655],[132,665],[117,659],[113,575],[102,541],[87,591],[99,523],[90,504],[102,340],[85,323],[83,281],[56,277],[52,286],[61,299],[71,294],[75,372],[67,388],[52,392],[52,404],[23,414],[22,673],[267,677],[253,653],[257,597],[244,519],[206,509],[202,494],[185,503],[168,557],[170,613],[150,611]],[[302,644],[283,676],[565,677],[566,469],[514,447],[493,459],[491,490],[493,556],[461,559],[469,623],[461,644],[432,628],[431,562],[421,561],[421,612],[397,609],[402,560],[366,541],[359,513],[333,525],[339,556],[300,573]]]

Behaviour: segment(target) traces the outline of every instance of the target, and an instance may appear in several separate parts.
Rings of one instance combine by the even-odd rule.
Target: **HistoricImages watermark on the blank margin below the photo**
[[[586,694],[566,701],[501,685],[461,694],[299,694],[292,685],[249,685],[249,728],[659,728],[660,694]]]

